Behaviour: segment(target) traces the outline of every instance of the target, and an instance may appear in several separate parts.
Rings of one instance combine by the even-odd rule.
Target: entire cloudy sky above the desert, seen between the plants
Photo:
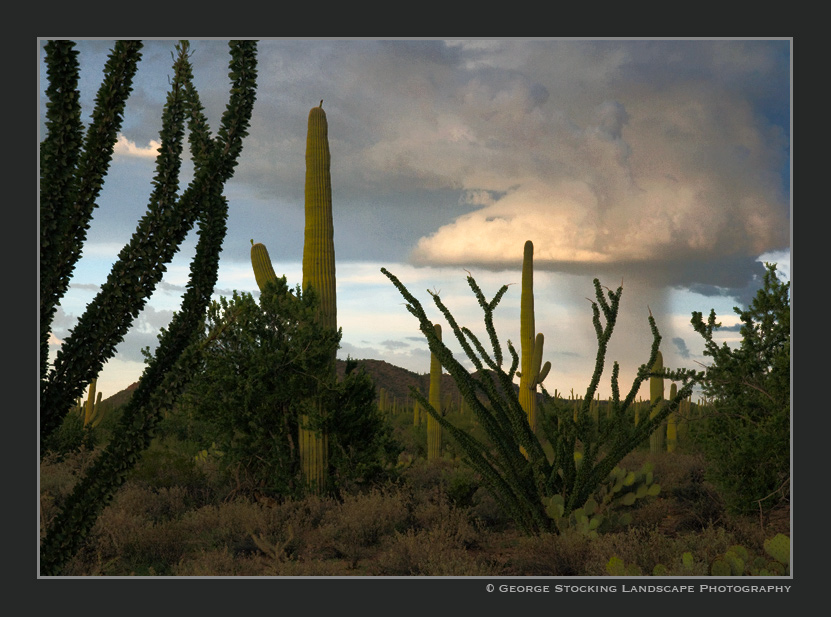
[[[174,43],[145,42],[83,257],[53,322],[51,354],[147,208]],[[191,44],[215,131],[228,100],[227,41]],[[85,121],[111,47],[78,41]],[[263,40],[250,134],[225,190],[228,235],[215,295],[258,295],[251,239],[266,245],[278,276],[301,282],[307,118],[323,99],[339,357],[429,372],[418,323],[382,267],[431,319],[440,314],[428,290],[483,338],[468,273],[488,297],[510,285],[495,325],[503,348],[508,340],[518,347],[521,262],[531,240],[549,392],[582,395],[589,384],[594,278],[623,286],[601,396],[610,394],[613,361],[626,392],[648,360],[650,312],[664,365],[700,370],[709,358],[691,313],[715,309],[719,340],[734,344],[733,307],[753,298],[763,262],[790,280],[791,62],[788,39]],[[178,308],[195,244],[191,233],[105,365],[104,397],[140,377],[141,349],[155,347]]]

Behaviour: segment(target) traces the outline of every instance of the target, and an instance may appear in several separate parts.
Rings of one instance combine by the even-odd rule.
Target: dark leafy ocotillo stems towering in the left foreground
[[[233,176],[256,98],[256,42],[231,41],[231,94],[217,135],[212,137],[192,83],[190,46],[187,42],[176,46],[147,212],[49,367],[51,321],[81,255],[141,43],[118,41],[114,45],[86,138],[81,135],[76,90],[79,67],[73,47],[71,41],[50,41],[45,46],[49,102],[47,135],[41,143],[41,443],[115,355],[116,346],[161,281],[166,264],[194,226],[199,240],[181,308],[162,331],[155,355],[124,408],[111,442],[46,530],[41,542],[41,573],[46,575],[59,574],[80,547],[98,513],[149,445],[162,410],[181,392],[195,366],[198,346],[192,343],[216,284],[226,234],[228,204],[222,191]],[[186,123],[194,175],[178,194]]]

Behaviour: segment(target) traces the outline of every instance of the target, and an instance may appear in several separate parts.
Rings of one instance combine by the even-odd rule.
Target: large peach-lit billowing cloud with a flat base
[[[422,237],[413,261],[511,265],[528,239],[540,266],[752,257],[786,245],[782,196],[757,172],[773,154],[752,111],[717,92],[690,94],[604,101],[584,129],[533,111],[512,117],[517,134],[531,139],[534,127],[548,141],[535,150],[536,165],[517,173],[498,158],[522,160],[522,138],[502,154],[494,148],[500,164],[476,174],[475,184],[473,176],[460,181],[471,195],[512,188],[469,199],[482,207]],[[479,129],[470,141],[487,148]],[[469,160],[463,150],[458,158]]]

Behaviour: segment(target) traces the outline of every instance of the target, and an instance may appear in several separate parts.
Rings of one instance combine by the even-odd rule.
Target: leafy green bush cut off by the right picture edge
[[[735,513],[769,511],[787,496],[790,481],[790,285],[766,264],[763,286],[746,310],[741,343],[718,345],[721,324],[710,311],[691,322],[704,338],[706,421],[696,437],[709,461],[710,479]]]

